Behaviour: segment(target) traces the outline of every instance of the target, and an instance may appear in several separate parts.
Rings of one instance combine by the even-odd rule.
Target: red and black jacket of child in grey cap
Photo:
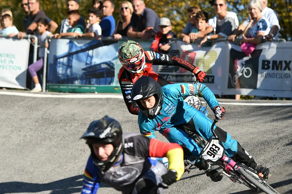
[[[168,53],[168,51],[162,51],[160,50],[160,47],[162,45],[165,45],[166,43],[170,43],[174,41],[176,38],[176,34],[172,31],[169,31],[167,34],[163,35],[161,32],[158,32],[154,36],[154,40],[151,43],[150,49],[151,51],[155,52],[163,52],[163,53]]]

